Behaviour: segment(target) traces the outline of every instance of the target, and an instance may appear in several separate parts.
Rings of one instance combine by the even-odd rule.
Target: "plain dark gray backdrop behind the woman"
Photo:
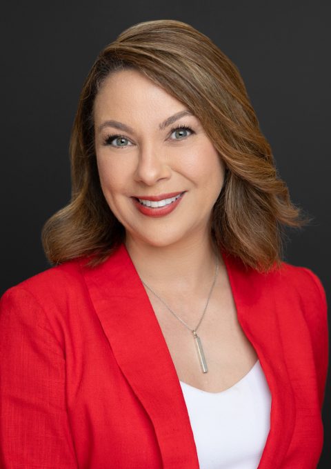
[[[285,259],[311,268],[329,293],[330,12],[327,0],[3,6],[0,293],[48,267],[40,231],[70,197],[70,128],[97,53],[123,29],[150,19],[192,24],[238,66],[292,200],[314,217],[289,232]],[[330,410],[327,398],[327,431]],[[328,448],[325,435],[319,468],[330,463]]]

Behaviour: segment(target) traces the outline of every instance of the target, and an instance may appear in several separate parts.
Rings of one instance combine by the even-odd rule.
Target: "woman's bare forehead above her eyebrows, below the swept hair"
[[[120,70],[101,84],[94,101],[94,121],[126,119],[157,123],[187,108],[148,77],[137,70]]]

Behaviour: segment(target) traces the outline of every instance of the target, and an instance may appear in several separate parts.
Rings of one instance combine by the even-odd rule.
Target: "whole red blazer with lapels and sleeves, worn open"
[[[272,395],[259,469],[316,468],[321,283],[305,268],[263,275],[223,258]],[[174,364],[124,246],[97,268],[70,261],[11,288],[0,318],[1,468],[199,468]]]

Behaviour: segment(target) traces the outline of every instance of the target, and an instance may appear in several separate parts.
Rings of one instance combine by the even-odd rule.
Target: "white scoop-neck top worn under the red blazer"
[[[256,469],[270,430],[271,395],[259,360],[234,386],[206,392],[180,381],[201,469]]]

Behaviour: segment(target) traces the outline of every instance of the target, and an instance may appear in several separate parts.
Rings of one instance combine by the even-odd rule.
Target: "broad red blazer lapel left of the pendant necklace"
[[[125,246],[83,275],[117,363],[153,423],[163,466],[198,469],[177,372]]]

